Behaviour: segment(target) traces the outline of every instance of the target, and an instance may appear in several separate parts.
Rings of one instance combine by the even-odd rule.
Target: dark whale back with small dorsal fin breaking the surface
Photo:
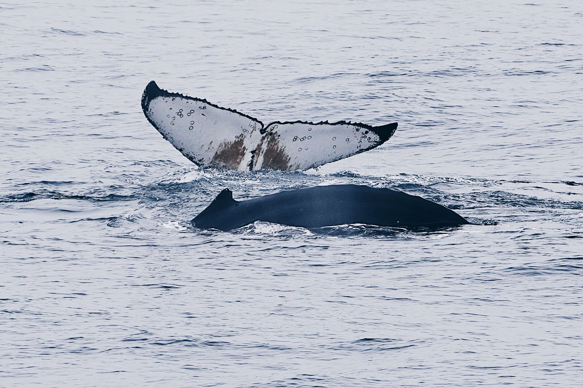
[[[201,229],[229,231],[255,221],[294,227],[367,224],[398,228],[442,228],[469,222],[447,207],[391,189],[330,185],[282,191],[236,201],[224,189],[192,220]]]

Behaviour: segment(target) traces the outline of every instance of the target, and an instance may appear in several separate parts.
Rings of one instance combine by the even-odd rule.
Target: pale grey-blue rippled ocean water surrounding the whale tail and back
[[[531,0],[529,0],[531,1]],[[0,2],[0,386],[583,386],[583,8]],[[264,122],[399,122],[318,171],[199,170],[150,80]],[[317,184],[476,225],[189,221]]]

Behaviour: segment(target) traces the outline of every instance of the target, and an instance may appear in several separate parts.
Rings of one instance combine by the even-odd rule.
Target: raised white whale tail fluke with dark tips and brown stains
[[[378,147],[397,129],[396,122],[371,126],[275,121],[264,125],[201,98],[169,93],[154,81],[142,94],[142,110],[164,139],[193,163],[240,171],[308,170]]]

